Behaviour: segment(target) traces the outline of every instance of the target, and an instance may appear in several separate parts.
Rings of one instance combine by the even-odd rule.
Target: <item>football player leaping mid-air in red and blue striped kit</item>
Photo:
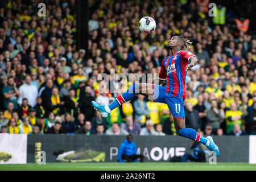
[[[98,105],[92,101],[93,107],[100,111],[102,117],[108,117],[109,113],[130,101],[136,94],[151,96],[152,101],[162,102],[168,105],[173,117],[177,134],[197,142],[205,144],[210,151],[216,152],[216,156],[220,155],[220,151],[214,144],[212,137],[201,137],[194,129],[185,127],[184,101],[186,97],[185,79],[187,69],[197,64],[197,58],[189,51],[183,50],[184,47],[190,48],[192,42],[185,40],[181,36],[173,36],[168,41],[168,48],[171,49],[172,55],[163,59],[162,68],[154,81],[149,83],[134,83],[126,92],[119,95],[108,106]],[[166,86],[160,86],[164,80],[167,80]],[[155,84],[158,83],[158,84]],[[153,92],[151,92],[153,90]]]

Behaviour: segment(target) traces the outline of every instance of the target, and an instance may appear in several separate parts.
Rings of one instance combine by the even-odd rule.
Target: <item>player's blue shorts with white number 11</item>
[[[164,86],[154,84],[152,101],[167,104],[174,118],[185,119],[185,114],[184,114],[185,100],[166,93],[166,88]]]

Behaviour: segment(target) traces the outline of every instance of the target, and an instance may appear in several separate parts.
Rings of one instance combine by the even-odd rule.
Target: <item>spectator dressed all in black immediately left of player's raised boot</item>
[[[81,91],[82,92],[82,91]],[[85,86],[84,94],[81,94],[79,98],[79,107],[81,109],[81,113],[86,115],[88,120],[92,119],[95,114],[95,110],[92,107],[92,101],[94,98],[91,96],[92,88],[90,86]]]

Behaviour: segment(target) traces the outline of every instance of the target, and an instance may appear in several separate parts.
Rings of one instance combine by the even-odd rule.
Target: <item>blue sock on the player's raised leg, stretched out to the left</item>
[[[109,104],[109,109],[113,110],[115,107],[118,107],[119,105],[122,105],[123,103],[130,101],[136,94],[136,88],[137,88],[137,83],[134,83],[127,89],[125,92],[123,92],[120,96],[115,98],[115,100]]]

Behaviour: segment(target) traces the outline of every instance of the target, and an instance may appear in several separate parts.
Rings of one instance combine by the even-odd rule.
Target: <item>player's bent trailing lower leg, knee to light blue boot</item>
[[[210,151],[216,152],[216,156],[220,155],[220,151],[218,150],[217,145],[213,142],[212,137],[208,136],[207,138],[204,138],[197,133],[196,130],[187,129],[185,127],[185,121],[182,118],[174,118],[174,125],[178,135],[203,143]]]

